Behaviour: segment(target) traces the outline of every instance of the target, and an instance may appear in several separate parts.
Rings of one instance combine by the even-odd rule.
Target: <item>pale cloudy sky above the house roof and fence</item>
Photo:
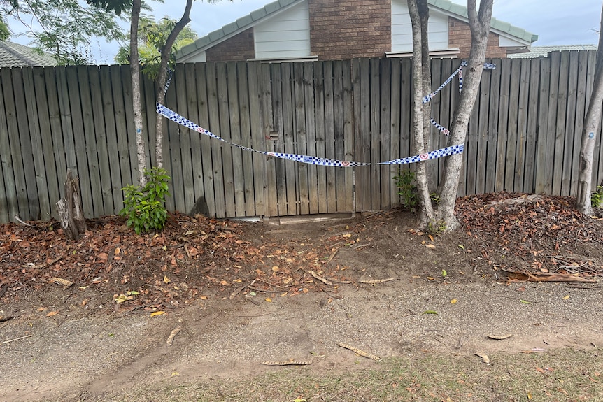
[[[272,0],[222,0],[218,3],[194,1],[190,26],[199,37],[262,8]],[[453,0],[467,6],[462,0]],[[185,0],[165,0],[164,3],[148,1],[155,19],[164,16],[179,20]],[[602,0],[495,0],[492,16],[497,20],[525,29],[538,35],[534,46],[597,44]],[[17,31],[16,24],[10,27]],[[129,27],[127,27],[129,29]],[[17,43],[29,44],[29,39],[14,37]],[[111,64],[118,51],[118,43],[104,40],[93,43],[95,62]]]

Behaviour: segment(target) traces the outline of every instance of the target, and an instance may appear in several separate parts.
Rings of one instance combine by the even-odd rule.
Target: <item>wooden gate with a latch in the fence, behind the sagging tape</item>
[[[262,84],[271,82],[269,150],[353,158],[350,63],[297,62],[262,67]],[[353,168],[269,157],[264,216],[353,212],[353,173]]]

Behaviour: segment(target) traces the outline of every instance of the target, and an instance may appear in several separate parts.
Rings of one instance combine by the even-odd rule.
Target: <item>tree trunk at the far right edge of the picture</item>
[[[603,9],[601,10],[603,18]],[[603,20],[601,20],[603,29]],[[576,206],[584,215],[593,215],[593,206],[590,204],[590,192],[593,182],[593,155],[599,121],[601,120],[603,103],[603,35],[599,31],[599,47],[597,48],[597,62],[595,64],[595,83],[590,94],[590,103],[584,124],[582,126],[582,145],[580,148],[580,170],[578,173],[578,196]]]

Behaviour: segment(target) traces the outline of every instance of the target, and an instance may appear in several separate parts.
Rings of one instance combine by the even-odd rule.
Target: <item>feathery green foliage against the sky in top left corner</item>
[[[105,6],[99,6],[101,3]],[[6,22],[12,17],[25,27],[25,35],[59,64],[85,64],[92,59],[92,38],[125,39],[115,13],[127,4],[127,0],[88,0],[85,4],[78,0],[0,0],[0,35],[6,35]]]

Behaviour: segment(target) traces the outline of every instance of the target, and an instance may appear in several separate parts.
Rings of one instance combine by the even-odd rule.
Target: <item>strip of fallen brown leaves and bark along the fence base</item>
[[[170,214],[163,231],[142,236],[122,217],[87,220],[89,229],[79,241],[66,240],[57,222],[2,224],[0,281],[5,296],[18,298],[21,289],[43,291],[52,284],[73,286],[115,295],[115,310],[149,313],[251,292],[267,292],[274,300],[309,291],[336,295],[343,284],[395,286],[385,282],[393,278],[364,279],[341,257],[340,250],[361,255],[379,247],[387,236],[375,238],[376,229],[398,245],[416,239],[413,250],[430,241],[434,259],[450,257],[464,268],[470,261],[474,273],[481,269],[495,279],[506,275],[510,282],[551,276],[592,282],[603,274],[602,256],[593,252],[603,248],[603,221],[578,213],[571,197],[465,196],[457,199],[456,214],[462,229],[450,236],[398,232],[396,222],[411,214],[394,208],[350,220],[343,234],[334,224],[324,236],[304,243],[263,238],[262,224],[180,213]],[[412,278],[433,279],[436,272],[444,281],[462,280],[464,274],[446,266]]]

